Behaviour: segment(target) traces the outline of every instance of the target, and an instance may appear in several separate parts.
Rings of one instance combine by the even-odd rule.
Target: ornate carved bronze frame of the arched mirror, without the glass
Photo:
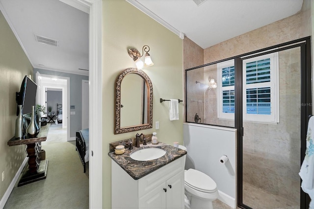
[[[148,124],[140,124],[140,125],[135,125],[135,126],[129,126],[129,127],[120,127],[121,124],[121,82],[122,79],[127,76],[128,74],[137,74],[140,77],[142,77],[146,84],[148,85],[147,89],[147,96],[149,96],[149,101],[148,101]],[[138,130],[144,130],[144,129],[151,129],[153,128],[153,84],[151,79],[147,76],[144,71],[139,70],[137,68],[128,68],[120,73],[120,75],[117,77],[116,82],[115,82],[115,119],[114,119],[114,134],[118,133],[126,133],[126,132],[131,132],[131,131],[138,131]]]

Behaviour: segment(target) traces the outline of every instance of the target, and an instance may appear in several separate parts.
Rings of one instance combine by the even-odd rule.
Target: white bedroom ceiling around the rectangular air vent
[[[34,68],[88,75],[87,13],[59,0],[0,0],[0,10]],[[58,46],[38,43],[34,34]]]

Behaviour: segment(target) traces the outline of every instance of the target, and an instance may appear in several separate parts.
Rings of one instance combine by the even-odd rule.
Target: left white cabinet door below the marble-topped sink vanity
[[[139,200],[140,209],[166,209],[165,183],[158,185],[155,189]]]

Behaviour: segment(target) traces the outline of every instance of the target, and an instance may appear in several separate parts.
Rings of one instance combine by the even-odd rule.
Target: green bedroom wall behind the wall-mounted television
[[[1,12],[0,28],[0,174],[4,171],[5,176],[0,181],[1,199],[26,157],[24,146],[9,147],[7,141],[15,133],[15,92],[20,91],[23,78],[30,77],[33,68]]]

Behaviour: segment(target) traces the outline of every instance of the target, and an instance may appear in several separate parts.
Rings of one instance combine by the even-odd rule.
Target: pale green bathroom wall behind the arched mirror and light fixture
[[[140,52],[148,45],[155,65],[143,71],[153,83],[153,129],[114,134],[114,82],[119,73],[135,65],[127,52]],[[111,161],[109,142],[134,137],[137,132],[157,132],[158,140],[183,142],[183,103],[180,120],[169,121],[169,103],[163,99],[183,99],[183,41],[170,30],[124,0],[103,1],[103,208],[111,206]],[[159,121],[159,130],[155,122]]]

